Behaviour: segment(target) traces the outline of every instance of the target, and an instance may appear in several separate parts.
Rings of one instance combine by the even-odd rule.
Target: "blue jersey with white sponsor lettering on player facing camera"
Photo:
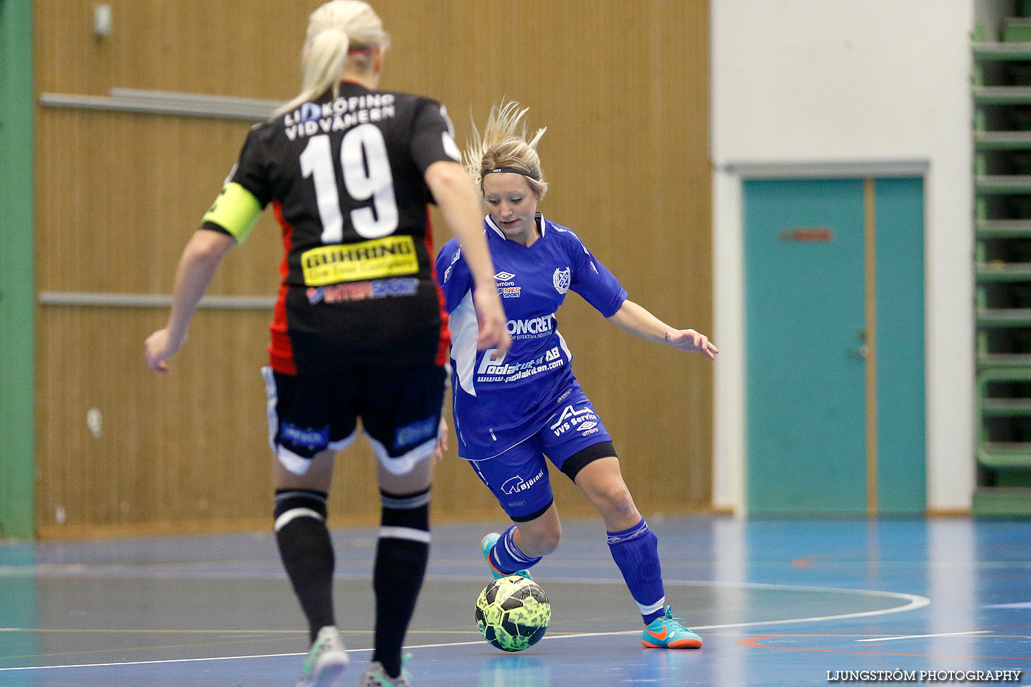
[[[540,237],[529,247],[506,239],[490,215],[485,226],[512,338],[506,354],[476,350],[472,275],[458,241],[448,241],[436,262],[451,313],[458,452],[468,460],[492,458],[534,435],[575,384],[572,353],[555,317],[566,291],[576,291],[605,317],[627,299],[617,278],[575,234],[540,213]]]

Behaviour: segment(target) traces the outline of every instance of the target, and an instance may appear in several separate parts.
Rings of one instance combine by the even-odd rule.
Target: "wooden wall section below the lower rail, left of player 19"
[[[173,373],[149,373],[157,310],[44,307],[38,341],[37,513],[63,523],[142,525],[265,514],[270,452],[258,374],[266,317],[202,311]],[[227,364],[226,352],[237,351]],[[100,412],[99,436],[87,413]]]

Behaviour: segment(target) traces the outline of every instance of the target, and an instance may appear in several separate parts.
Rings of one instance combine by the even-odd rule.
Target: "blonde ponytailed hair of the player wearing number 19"
[[[308,31],[301,48],[301,92],[275,114],[289,112],[314,100],[330,88],[340,93],[340,72],[347,65],[348,51],[390,44],[390,35],[369,3],[362,0],[331,0],[308,16]],[[358,64],[355,58],[350,57]]]

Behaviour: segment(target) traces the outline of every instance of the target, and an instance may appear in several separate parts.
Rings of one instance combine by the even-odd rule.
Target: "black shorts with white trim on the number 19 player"
[[[348,446],[359,417],[376,457],[392,473],[407,473],[436,447],[444,398],[441,367],[367,366],[310,375],[263,368],[262,374],[269,443],[291,472],[305,472],[320,451]]]

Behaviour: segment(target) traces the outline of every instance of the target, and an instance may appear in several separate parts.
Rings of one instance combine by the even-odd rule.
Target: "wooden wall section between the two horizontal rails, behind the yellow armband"
[[[178,255],[248,126],[44,108],[36,130],[39,289],[169,293]],[[210,293],[275,295],[281,252],[278,226],[264,213]]]

